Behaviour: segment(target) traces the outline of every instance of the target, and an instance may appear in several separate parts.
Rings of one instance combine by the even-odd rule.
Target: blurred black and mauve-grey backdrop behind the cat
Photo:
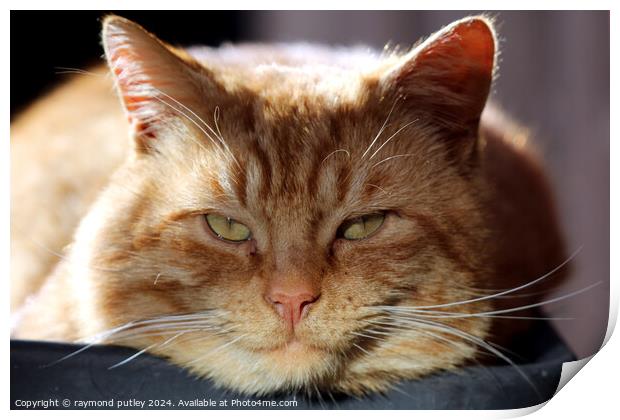
[[[68,78],[102,63],[100,19],[110,12],[11,11],[11,116]],[[120,11],[175,45],[310,41],[410,46],[480,11]],[[598,287],[548,305],[579,357],[597,351],[609,315],[609,12],[488,12],[500,36],[492,97],[530,128],[556,192],[569,254],[557,292]]]

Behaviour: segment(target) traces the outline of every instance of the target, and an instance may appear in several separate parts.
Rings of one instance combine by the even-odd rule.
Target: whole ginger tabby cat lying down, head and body
[[[134,143],[101,76],[69,82],[12,127],[16,336],[124,326],[95,338],[253,393],[361,394],[462,365],[489,350],[478,339],[510,342],[525,320],[445,317],[540,299],[538,283],[529,297],[480,298],[564,259],[525,133],[494,109],[478,126],[495,54],[486,25],[463,21],[414,59],[311,46],[190,58],[109,19]],[[437,42],[470,38],[447,55]],[[452,80],[455,51],[465,64],[450,63]],[[224,241],[204,214],[252,234]],[[368,214],[381,215],[376,232],[338,236]],[[67,256],[54,255],[80,220]]]

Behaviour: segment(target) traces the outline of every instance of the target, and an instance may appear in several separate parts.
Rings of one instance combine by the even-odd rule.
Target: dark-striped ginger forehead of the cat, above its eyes
[[[400,207],[414,186],[408,180],[425,156],[423,148],[404,152],[413,150],[408,145],[413,141],[392,136],[396,125],[381,132],[383,115],[360,120],[355,112],[325,112],[314,120],[255,121],[252,129],[224,125],[225,116],[226,147],[198,173],[208,180],[201,185],[216,197],[214,205],[239,208],[270,223],[302,226],[329,215],[344,219]]]

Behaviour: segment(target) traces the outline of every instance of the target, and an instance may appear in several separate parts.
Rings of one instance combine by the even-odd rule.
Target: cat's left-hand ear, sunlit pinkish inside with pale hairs
[[[105,18],[102,40],[137,149],[146,151],[163,124],[198,101],[204,74],[193,59],[119,16]]]

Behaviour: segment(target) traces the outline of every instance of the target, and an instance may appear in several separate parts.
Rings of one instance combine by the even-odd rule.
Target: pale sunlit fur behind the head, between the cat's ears
[[[197,47],[188,53],[230,91],[245,90],[259,98],[279,100],[315,97],[326,103],[354,101],[368,75],[395,59],[369,47],[304,43]]]

